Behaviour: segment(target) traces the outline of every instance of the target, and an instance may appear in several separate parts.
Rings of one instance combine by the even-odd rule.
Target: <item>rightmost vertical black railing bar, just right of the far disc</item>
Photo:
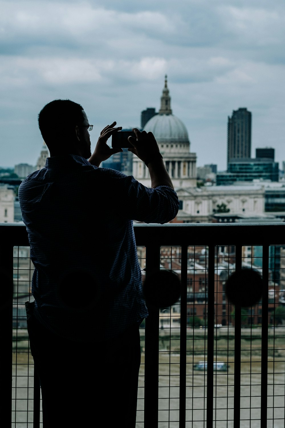
[[[268,371],[268,270],[269,246],[262,247],[262,314],[261,314],[261,428],[267,428],[267,371]]]

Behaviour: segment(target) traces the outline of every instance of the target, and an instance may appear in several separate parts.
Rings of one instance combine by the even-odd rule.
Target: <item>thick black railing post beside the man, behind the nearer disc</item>
[[[146,247],[146,279],[153,269],[160,266],[160,246]],[[144,354],[144,427],[158,426],[159,406],[159,309],[148,307],[145,321]]]

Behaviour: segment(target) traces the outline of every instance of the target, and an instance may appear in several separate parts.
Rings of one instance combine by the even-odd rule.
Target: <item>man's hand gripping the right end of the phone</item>
[[[146,131],[139,131],[137,128],[132,129],[136,139],[134,137],[129,137],[129,143],[132,144],[129,152],[134,153],[138,158],[143,162],[150,161],[152,158],[159,157],[159,146],[156,143],[156,139],[152,132],[146,133]]]

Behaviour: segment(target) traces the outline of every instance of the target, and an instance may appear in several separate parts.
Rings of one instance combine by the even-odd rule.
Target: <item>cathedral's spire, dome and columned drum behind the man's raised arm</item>
[[[184,123],[172,114],[167,76],[159,113],[146,123],[144,131],[152,132],[155,136],[174,188],[196,187],[196,153],[190,153],[190,141]],[[151,187],[148,168],[136,156],[133,157],[132,174],[142,184]]]

